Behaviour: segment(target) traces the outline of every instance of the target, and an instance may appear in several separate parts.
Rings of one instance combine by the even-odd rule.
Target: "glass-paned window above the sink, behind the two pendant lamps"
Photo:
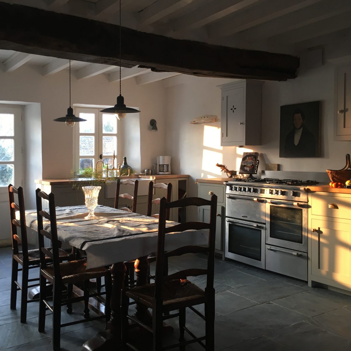
[[[95,108],[76,108],[75,115],[86,119],[74,126],[76,170],[95,169],[100,159],[112,168],[113,152],[117,156],[117,119],[114,114],[102,113]]]

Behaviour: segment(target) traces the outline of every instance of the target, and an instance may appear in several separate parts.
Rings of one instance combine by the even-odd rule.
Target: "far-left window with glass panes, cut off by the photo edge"
[[[21,107],[0,105],[0,187],[22,183]]]

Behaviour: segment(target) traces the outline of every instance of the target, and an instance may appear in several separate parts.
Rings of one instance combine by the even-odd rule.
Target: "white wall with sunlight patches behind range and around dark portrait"
[[[284,171],[324,172],[342,168],[350,141],[334,141],[335,66],[302,73],[285,82],[266,81],[262,91],[262,145],[247,146],[260,153],[262,163],[278,163]],[[217,115],[220,118],[221,91],[216,85],[230,79],[177,76],[167,80],[167,154],[172,156],[172,172],[190,174],[190,196],[197,196],[197,178],[219,177],[215,164],[224,163],[237,170],[245,148],[220,146],[220,122],[191,125],[193,118]],[[307,101],[322,101],[321,157],[279,158],[280,106]],[[222,173],[223,174],[223,173]]]

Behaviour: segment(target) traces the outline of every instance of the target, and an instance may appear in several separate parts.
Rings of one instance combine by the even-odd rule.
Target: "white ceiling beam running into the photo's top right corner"
[[[230,39],[234,46],[243,42],[256,42],[260,39],[270,38],[277,34],[289,32],[293,29],[301,28],[350,10],[350,0],[323,0],[320,3],[276,18],[263,25],[237,33]]]

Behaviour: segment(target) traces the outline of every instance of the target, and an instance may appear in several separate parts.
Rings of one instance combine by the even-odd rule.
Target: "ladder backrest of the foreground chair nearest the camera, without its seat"
[[[204,222],[185,222],[169,227],[166,223],[166,211],[175,207],[187,206],[208,206],[210,205],[210,223]],[[155,289],[154,298],[162,300],[163,282],[172,279],[185,279],[188,276],[207,275],[205,294],[213,292],[213,277],[214,277],[214,246],[216,239],[216,209],[217,196],[212,195],[211,200],[201,198],[184,198],[181,200],[167,203],[165,198],[160,201],[160,213],[158,222],[158,238],[157,238],[157,254],[156,254],[156,271],[155,271]],[[191,230],[208,230],[208,247],[199,245],[183,246],[168,253],[165,253],[165,237],[166,233],[185,232],[192,235]],[[177,235],[177,234],[175,234]],[[173,273],[169,276],[164,276],[165,257],[179,256],[185,253],[207,252],[207,269],[190,268],[180,272]]]

